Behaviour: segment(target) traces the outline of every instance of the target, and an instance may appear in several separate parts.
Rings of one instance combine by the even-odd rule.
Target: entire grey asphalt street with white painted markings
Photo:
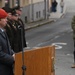
[[[67,10],[63,18],[26,31],[28,47],[55,45],[55,75],[74,75],[73,34],[71,21],[75,15],[74,0],[66,0]],[[71,4],[70,4],[71,2]]]

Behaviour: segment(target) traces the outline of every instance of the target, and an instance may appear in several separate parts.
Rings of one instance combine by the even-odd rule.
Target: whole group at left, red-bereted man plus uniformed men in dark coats
[[[0,8],[0,75],[14,75],[15,53],[27,47],[22,8]]]

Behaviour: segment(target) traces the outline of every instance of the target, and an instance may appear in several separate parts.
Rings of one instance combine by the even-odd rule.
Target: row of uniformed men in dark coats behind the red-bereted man
[[[11,48],[14,50],[14,52],[19,52],[22,50],[22,36],[20,27],[22,28],[23,34],[23,47],[27,47],[24,23],[20,18],[20,15],[22,14],[22,8],[20,8],[20,6],[16,6],[12,9],[7,7],[3,7],[2,9],[8,13],[8,21],[7,25],[5,26],[5,31],[8,35]]]

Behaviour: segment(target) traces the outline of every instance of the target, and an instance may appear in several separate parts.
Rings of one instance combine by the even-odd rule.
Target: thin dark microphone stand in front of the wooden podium
[[[22,26],[18,27],[21,30],[21,41],[22,41],[22,75],[25,75],[26,66],[24,65],[24,49],[23,49],[23,29]]]

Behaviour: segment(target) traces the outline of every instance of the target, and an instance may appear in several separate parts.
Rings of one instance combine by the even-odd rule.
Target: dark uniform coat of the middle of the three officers
[[[17,21],[13,21],[13,26],[14,26],[14,40],[13,40],[13,49],[14,51],[17,53],[19,51],[21,51],[20,49],[20,29],[18,28],[18,24],[17,24]]]

